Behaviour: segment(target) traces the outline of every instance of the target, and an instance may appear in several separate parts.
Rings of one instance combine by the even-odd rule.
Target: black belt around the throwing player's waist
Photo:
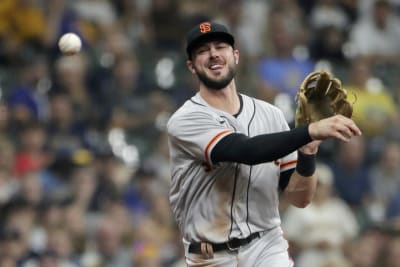
[[[239,249],[241,246],[249,244],[251,241],[253,241],[256,238],[259,238],[261,236],[260,232],[252,233],[246,238],[232,238],[228,242],[225,243],[207,243],[211,245],[212,251],[213,252],[218,252],[222,250],[230,250],[230,251],[235,251]],[[194,253],[194,254],[202,254],[202,244],[203,242],[199,243],[191,243],[189,245],[189,253]]]

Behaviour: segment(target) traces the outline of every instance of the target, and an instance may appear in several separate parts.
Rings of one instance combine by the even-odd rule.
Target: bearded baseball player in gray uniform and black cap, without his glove
[[[361,132],[337,115],[289,129],[275,106],[238,93],[239,51],[215,22],[187,34],[187,67],[199,91],[170,118],[170,205],[188,266],[293,266],[278,212],[279,192],[305,207],[321,140]]]

